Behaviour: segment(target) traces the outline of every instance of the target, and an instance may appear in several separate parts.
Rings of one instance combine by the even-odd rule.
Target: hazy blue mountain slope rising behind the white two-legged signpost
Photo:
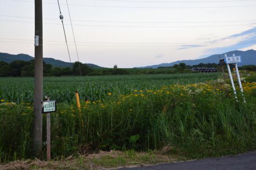
[[[231,52],[226,52],[223,54],[215,54],[215,55],[211,55],[207,58],[203,58],[203,59],[190,59],[190,60],[179,60],[179,61],[175,61],[172,63],[162,63],[159,65],[149,65],[149,66],[145,66],[145,67],[137,67],[137,68],[157,68],[157,67],[169,67],[169,66],[173,66],[175,64],[179,64],[179,63],[186,63],[186,65],[198,65],[200,63],[219,63],[219,56],[221,58],[224,58],[224,54],[227,54],[228,57],[232,56],[232,54],[235,54],[236,56],[242,56],[242,63],[239,63],[238,66],[242,66],[242,65],[256,65],[256,51],[255,50],[247,50],[247,51],[231,51]]]

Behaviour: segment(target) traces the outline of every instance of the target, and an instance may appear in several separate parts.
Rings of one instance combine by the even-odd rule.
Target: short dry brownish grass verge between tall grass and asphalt
[[[79,157],[67,157],[62,160],[50,162],[34,160],[14,161],[0,165],[0,170],[99,170],[99,169],[119,169],[121,167],[146,166],[158,163],[170,163],[186,160],[173,154],[165,154],[170,148],[165,147],[162,151],[135,152],[99,151],[99,153],[82,155]]]

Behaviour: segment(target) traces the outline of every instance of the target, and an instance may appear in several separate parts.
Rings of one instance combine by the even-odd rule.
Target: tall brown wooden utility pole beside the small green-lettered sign
[[[34,123],[33,154],[41,157],[42,148],[42,113],[43,96],[43,22],[42,0],[35,0],[35,48],[34,48]]]

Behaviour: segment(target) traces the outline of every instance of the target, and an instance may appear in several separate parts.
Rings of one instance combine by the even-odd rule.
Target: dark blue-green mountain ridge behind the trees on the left
[[[31,57],[30,55],[27,54],[17,54],[17,55],[13,55],[13,54],[8,54],[8,53],[2,53],[0,52],[0,61],[5,61],[7,63],[11,63],[15,60],[23,60],[23,61],[30,61],[31,59],[34,59],[34,57]],[[70,63],[69,62],[65,62],[65,61],[61,61],[58,59],[53,59],[53,58],[43,58],[44,62],[46,62],[47,64],[51,64],[54,67],[70,67]],[[72,63],[74,64],[74,63]],[[102,68],[99,65],[94,65],[94,64],[87,64],[89,67],[93,67],[93,68]]]

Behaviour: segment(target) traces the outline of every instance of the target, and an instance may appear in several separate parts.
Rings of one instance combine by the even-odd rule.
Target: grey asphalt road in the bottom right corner
[[[218,157],[155,166],[121,168],[119,170],[256,170],[256,151],[236,156]]]

